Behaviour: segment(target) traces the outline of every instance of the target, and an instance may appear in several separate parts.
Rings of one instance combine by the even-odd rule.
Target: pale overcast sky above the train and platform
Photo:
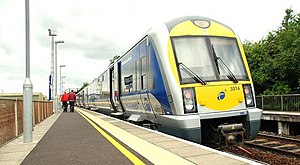
[[[65,88],[92,82],[156,22],[199,15],[218,20],[243,41],[259,41],[277,30],[299,0],[29,0],[30,79],[33,92],[48,95],[51,38],[56,30],[59,66]],[[0,0],[0,92],[23,92],[25,72],[25,0]],[[59,85],[58,85],[59,86]],[[58,89],[59,91],[59,89]]]

